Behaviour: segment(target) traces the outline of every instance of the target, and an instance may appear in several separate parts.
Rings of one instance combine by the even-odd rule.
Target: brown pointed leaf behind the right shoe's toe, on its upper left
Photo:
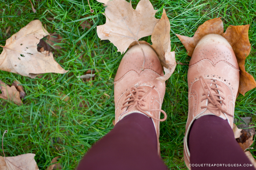
[[[224,27],[221,18],[214,18],[205,21],[201,26],[198,27],[193,37],[186,37],[183,35],[176,34],[180,39],[181,43],[184,45],[188,52],[188,56],[192,56],[194,49],[198,41],[207,34],[219,34],[223,35]]]

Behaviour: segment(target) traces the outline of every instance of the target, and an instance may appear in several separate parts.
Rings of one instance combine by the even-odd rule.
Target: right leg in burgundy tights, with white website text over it
[[[191,170],[254,170],[243,166],[251,164],[251,161],[238,145],[228,121],[220,117],[205,115],[196,119],[188,142],[191,164],[216,164],[213,167],[191,167]],[[224,165],[217,167],[217,164]],[[241,164],[242,167],[234,167],[233,164]]]

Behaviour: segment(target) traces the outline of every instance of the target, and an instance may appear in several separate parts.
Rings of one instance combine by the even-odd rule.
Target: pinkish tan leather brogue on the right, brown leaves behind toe
[[[188,133],[195,119],[216,115],[232,128],[239,86],[239,67],[228,41],[218,34],[205,35],[197,44],[188,69],[188,119],[184,160],[189,167]]]

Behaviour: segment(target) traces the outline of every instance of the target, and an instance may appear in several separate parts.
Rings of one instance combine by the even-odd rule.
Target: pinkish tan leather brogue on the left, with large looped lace
[[[144,70],[143,53],[145,54]],[[124,55],[114,80],[115,123],[131,113],[141,113],[151,117],[157,134],[159,149],[159,121],[167,115],[161,110],[165,95],[165,83],[156,78],[163,76],[163,70],[156,52],[148,45],[130,48]],[[164,118],[160,119],[161,112]]]

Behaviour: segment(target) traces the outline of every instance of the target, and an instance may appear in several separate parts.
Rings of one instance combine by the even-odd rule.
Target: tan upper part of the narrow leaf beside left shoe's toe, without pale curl
[[[168,68],[169,66],[165,60],[165,53],[171,51],[170,21],[166,15],[165,9],[163,9],[161,19],[155,25],[151,41],[151,47],[156,51],[162,67]]]

